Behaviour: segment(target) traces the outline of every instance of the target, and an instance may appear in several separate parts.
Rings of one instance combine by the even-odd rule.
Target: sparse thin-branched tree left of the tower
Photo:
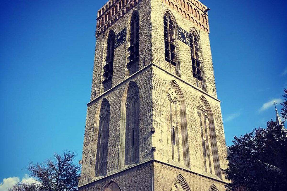
[[[30,176],[37,180],[34,184],[19,183],[9,191],[75,191],[77,190],[80,166],[73,160],[75,152],[64,151],[42,164],[30,162]]]

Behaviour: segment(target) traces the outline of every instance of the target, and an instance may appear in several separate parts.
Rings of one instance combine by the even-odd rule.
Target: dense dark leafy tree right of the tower
[[[234,137],[228,168],[222,170],[231,183],[226,190],[280,191],[287,188],[287,138],[274,121]]]

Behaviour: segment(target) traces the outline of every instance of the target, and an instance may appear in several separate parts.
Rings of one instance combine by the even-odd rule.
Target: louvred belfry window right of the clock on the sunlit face
[[[199,87],[199,81],[202,85],[202,70],[201,70],[201,62],[199,61],[199,42],[195,31],[192,29],[189,32],[189,45],[191,52],[191,61],[192,61],[192,72],[193,77],[196,78],[196,85]]]

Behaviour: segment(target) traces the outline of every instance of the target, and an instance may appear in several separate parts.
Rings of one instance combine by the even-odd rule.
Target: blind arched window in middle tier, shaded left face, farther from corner
[[[108,135],[110,127],[110,104],[107,99],[102,101],[99,116],[98,146],[96,154],[96,175],[105,175],[108,156]]]

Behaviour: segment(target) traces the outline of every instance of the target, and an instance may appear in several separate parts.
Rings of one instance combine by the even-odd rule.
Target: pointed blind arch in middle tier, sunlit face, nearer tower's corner
[[[170,81],[166,86],[166,124],[170,129],[172,160],[190,168],[185,99],[179,85]],[[179,139],[181,135],[181,141]],[[182,153],[180,152],[182,150]]]

